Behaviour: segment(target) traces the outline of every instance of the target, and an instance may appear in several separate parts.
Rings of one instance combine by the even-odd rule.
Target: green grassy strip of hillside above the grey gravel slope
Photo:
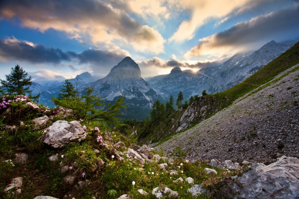
[[[211,104],[217,104],[217,107],[213,107],[207,111],[205,119],[211,117],[216,112],[220,111],[223,108],[231,105],[236,99],[242,97],[248,92],[256,89],[257,87],[265,84],[266,82],[271,81],[275,76],[285,71],[286,69],[296,65],[299,63],[299,42],[297,42],[294,46],[292,46],[289,50],[286,50],[285,53],[278,56],[272,62],[261,68],[259,71],[245,79],[243,82],[233,86],[232,88],[223,91],[221,93],[216,93],[204,97],[200,97],[199,100],[203,100],[206,98],[208,101],[210,100]],[[215,102],[216,100],[216,102]],[[218,103],[217,103],[218,102]],[[200,104],[200,103],[199,103]],[[181,114],[184,112],[181,111]],[[176,117],[180,118],[180,117]],[[192,126],[198,124],[202,120],[195,118],[192,121]],[[177,121],[179,122],[179,120]],[[170,125],[170,127],[169,127]],[[155,128],[152,130],[152,134],[148,135],[142,141],[147,143],[152,140],[157,142],[157,137],[159,137],[159,141],[166,141],[171,136],[176,134],[175,130],[168,132],[167,130],[171,128],[173,124],[165,124],[163,122],[155,125]],[[185,129],[187,130],[187,129]],[[184,130],[184,131],[185,131]],[[181,132],[181,131],[180,131]]]

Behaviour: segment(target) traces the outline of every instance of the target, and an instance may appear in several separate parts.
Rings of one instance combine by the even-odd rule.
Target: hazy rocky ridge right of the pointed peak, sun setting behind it
[[[152,77],[148,82],[174,96],[182,91],[185,98],[200,95],[203,90],[209,94],[225,91],[254,74],[295,43],[295,40],[281,43],[272,40],[259,50],[237,53],[219,66],[203,68],[198,72],[181,71],[175,67],[170,74]]]

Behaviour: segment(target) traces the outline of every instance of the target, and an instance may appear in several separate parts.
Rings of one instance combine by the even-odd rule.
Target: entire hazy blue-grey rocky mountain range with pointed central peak
[[[85,72],[69,81],[75,88],[77,83],[83,93],[86,87],[93,87],[94,94],[111,103],[123,96],[129,107],[124,113],[126,118],[142,120],[149,114],[155,100],[165,102],[171,94],[176,97],[179,91],[183,92],[185,98],[201,95],[203,90],[208,94],[224,91],[254,74],[295,42],[276,43],[272,40],[259,50],[235,54],[219,66],[199,71],[182,71],[175,67],[170,74],[155,76],[147,81],[141,77],[138,64],[132,58],[125,57],[102,79],[96,79]],[[65,79],[63,76],[55,76],[54,79],[39,78],[33,81],[30,89],[33,94],[41,93],[39,103],[53,106],[51,96],[58,96]]]

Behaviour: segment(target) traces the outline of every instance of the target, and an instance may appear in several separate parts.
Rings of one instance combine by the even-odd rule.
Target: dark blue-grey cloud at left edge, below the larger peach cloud
[[[0,39],[0,57],[5,59],[19,59],[32,63],[54,63],[70,61],[68,53],[59,48],[47,48],[43,45],[35,45],[32,42],[13,39]]]

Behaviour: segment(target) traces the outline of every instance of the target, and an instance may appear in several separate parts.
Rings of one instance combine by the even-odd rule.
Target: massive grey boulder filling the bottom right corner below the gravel
[[[233,189],[241,198],[299,198],[299,159],[282,156],[268,166],[257,163],[238,181],[243,188],[234,184]]]

